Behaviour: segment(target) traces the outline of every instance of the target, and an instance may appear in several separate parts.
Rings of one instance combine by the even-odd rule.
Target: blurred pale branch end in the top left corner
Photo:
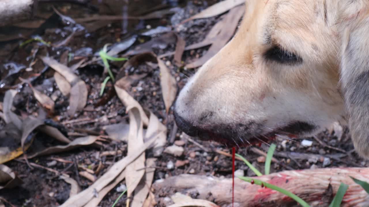
[[[0,0],[0,27],[32,17],[34,0]]]

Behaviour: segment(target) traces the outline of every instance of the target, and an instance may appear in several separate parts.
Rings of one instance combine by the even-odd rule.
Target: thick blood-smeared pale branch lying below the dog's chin
[[[342,205],[369,206],[369,195],[349,177],[369,181],[369,168],[321,168],[297,171],[282,171],[255,177],[283,189],[289,190],[311,206],[328,206],[335,196],[341,182],[349,185]],[[330,188],[331,185],[331,188]],[[204,175],[179,175],[154,183],[155,189],[174,188],[185,190],[196,199],[213,201],[220,206],[232,202],[232,180]],[[173,192],[166,190],[166,192]],[[274,190],[252,185],[235,178],[235,206],[239,207],[277,207],[296,204],[292,199]],[[170,195],[168,195],[170,196]]]

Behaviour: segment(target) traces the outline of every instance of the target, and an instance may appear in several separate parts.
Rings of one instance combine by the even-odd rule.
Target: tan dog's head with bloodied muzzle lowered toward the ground
[[[238,147],[339,121],[369,158],[369,1],[246,0],[235,36],[189,78],[174,116],[189,136]]]

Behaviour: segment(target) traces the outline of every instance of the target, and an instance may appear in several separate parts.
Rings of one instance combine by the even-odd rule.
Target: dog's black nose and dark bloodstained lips
[[[273,140],[276,135],[294,136],[301,133],[310,133],[317,127],[303,121],[293,121],[278,129],[270,129],[264,122],[247,122],[237,124],[214,124],[194,126],[189,121],[178,116],[176,113],[175,122],[179,129],[192,137],[201,140],[211,140],[223,143],[228,147],[246,147],[259,143],[267,143]]]

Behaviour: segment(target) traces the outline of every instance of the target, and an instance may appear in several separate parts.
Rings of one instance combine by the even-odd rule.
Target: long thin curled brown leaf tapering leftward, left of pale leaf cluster
[[[56,154],[59,152],[66,152],[73,150],[75,148],[87,146],[93,144],[98,137],[96,136],[87,136],[87,137],[79,137],[73,140],[71,143],[67,145],[58,145],[55,147],[48,147],[45,150],[35,152],[34,154],[28,155],[28,158],[34,158],[40,155],[49,155],[49,154]]]

